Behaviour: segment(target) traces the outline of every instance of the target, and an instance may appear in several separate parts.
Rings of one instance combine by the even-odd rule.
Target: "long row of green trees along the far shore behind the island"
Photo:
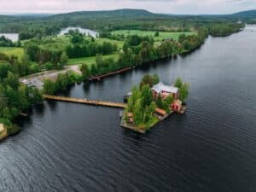
[[[96,55],[96,63],[88,67],[82,66],[84,79],[90,79],[91,76],[101,75],[113,72],[125,67],[135,67],[149,61],[155,61],[166,56],[180,54],[196,49],[207,38],[207,30],[201,30],[197,35],[181,36],[179,42],[175,40],[166,40],[160,42],[160,45],[154,47],[154,42],[143,41],[137,46],[131,46],[127,42],[119,52],[117,59],[104,59],[102,55]]]

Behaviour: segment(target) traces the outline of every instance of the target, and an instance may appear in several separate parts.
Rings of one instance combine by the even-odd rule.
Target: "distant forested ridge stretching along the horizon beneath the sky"
[[[250,21],[256,18],[255,15],[254,11],[237,15],[160,15],[142,9],[83,11],[41,17],[0,15],[0,32],[18,32],[20,40],[53,35],[67,26],[81,26],[98,31],[138,29],[177,32],[197,30],[201,27],[211,29],[212,26],[223,24],[232,28],[240,16],[241,20]],[[225,35],[232,33],[230,30],[224,32]]]

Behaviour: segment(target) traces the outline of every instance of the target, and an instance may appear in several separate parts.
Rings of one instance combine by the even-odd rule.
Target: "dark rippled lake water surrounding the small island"
[[[119,127],[118,109],[45,102],[0,144],[0,191],[256,191],[256,33],[67,95],[121,102],[147,73],[190,82],[185,115],[139,135]]]

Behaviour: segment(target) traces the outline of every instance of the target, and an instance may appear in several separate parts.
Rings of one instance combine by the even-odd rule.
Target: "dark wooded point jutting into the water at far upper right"
[[[213,37],[225,37],[229,36],[235,32],[240,32],[241,28],[245,25],[243,23],[222,23],[222,24],[213,24],[209,26],[209,34]]]

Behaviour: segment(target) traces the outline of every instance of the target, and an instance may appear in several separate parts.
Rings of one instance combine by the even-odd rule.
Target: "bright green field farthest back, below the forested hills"
[[[113,34],[119,34],[119,35],[140,35],[140,36],[152,36],[154,37],[155,32],[154,31],[139,31],[139,30],[118,30],[118,31],[113,31]],[[185,35],[194,35],[197,34],[196,32],[159,32],[160,36],[159,37],[154,37],[154,40],[156,41],[161,41],[166,38],[174,38],[178,39],[178,37],[181,34]]]

